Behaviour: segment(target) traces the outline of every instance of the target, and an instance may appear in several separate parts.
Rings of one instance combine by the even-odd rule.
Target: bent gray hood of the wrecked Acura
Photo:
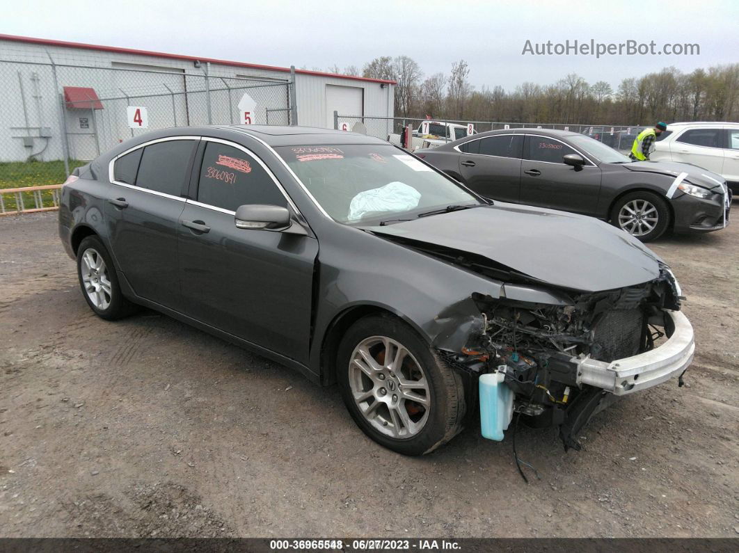
[[[651,281],[661,261],[636,238],[598,219],[502,202],[364,228],[482,255],[539,281],[583,292]]]

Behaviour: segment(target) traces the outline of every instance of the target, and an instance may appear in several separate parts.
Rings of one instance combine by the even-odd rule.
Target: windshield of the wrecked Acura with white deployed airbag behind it
[[[450,205],[481,203],[428,165],[391,145],[275,149],[321,207],[341,223],[415,219],[420,213]]]

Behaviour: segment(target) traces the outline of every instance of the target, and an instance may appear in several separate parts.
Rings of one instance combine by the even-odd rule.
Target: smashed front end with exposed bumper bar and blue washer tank
[[[446,363],[478,380],[486,438],[503,439],[517,413],[531,427],[559,427],[565,450],[579,450],[579,430],[595,413],[619,396],[681,377],[692,360],[692,327],[664,264],[653,281],[556,291],[556,301],[542,290],[534,302],[520,300],[537,298],[537,289],[517,289],[508,286],[500,298],[472,295],[480,315],[466,324],[466,343],[438,349]]]

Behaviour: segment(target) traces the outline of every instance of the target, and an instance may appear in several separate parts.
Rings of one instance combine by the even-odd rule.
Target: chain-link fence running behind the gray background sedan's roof
[[[636,136],[646,128],[645,126],[627,125],[586,125],[559,124],[559,123],[513,123],[497,121],[467,121],[453,119],[434,119],[429,121],[429,133],[421,134],[425,118],[415,117],[367,117],[362,115],[341,115],[334,112],[334,128],[352,131],[366,131],[369,136],[388,140],[400,144],[403,128],[411,126],[414,129],[414,143],[411,149],[424,147],[423,137],[432,140],[430,145],[438,145],[439,140],[451,142],[467,136],[467,127],[473,126],[474,132],[497,131],[508,128],[554,128],[560,131],[572,131],[586,134],[599,142],[609,145],[621,152],[631,150]],[[358,126],[360,124],[360,126]]]

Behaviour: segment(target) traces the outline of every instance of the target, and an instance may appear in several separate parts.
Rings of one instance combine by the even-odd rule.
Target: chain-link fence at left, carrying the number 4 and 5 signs
[[[292,78],[219,75],[222,69],[206,63],[185,71],[47,58],[0,58],[0,190],[60,184],[75,167],[154,129],[290,125],[295,117]],[[239,108],[245,95],[253,106],[248,120]],[[38,193],[26,196],[35,202]],[[53,201],[44,190],[42,205]],[[7,194],[4,208],[17,202]]]

